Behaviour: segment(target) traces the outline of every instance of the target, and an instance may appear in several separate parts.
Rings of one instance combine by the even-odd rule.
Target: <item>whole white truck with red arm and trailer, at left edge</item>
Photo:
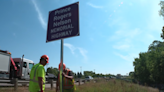
[[[29,59],[12,58],[8,51],[0,50],[0,78],[1,79],[29,79],[34,62]]]

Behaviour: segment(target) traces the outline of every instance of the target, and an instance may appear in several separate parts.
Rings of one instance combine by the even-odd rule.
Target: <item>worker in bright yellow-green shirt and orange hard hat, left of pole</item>
[[[45,69],[44,66],[48,63],[49,57],[43,55],[40,62],[34,65],[30,72],[29,91],[30,92],[44,92],[45,90]]]

